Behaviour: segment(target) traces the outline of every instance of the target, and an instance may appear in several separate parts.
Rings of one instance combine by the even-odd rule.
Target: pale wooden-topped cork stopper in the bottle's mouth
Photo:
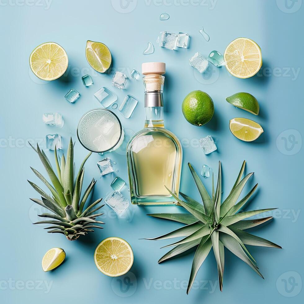
[[[163,92],[166,64],[163,62],[145,62],[141,65],[145,92]]]

